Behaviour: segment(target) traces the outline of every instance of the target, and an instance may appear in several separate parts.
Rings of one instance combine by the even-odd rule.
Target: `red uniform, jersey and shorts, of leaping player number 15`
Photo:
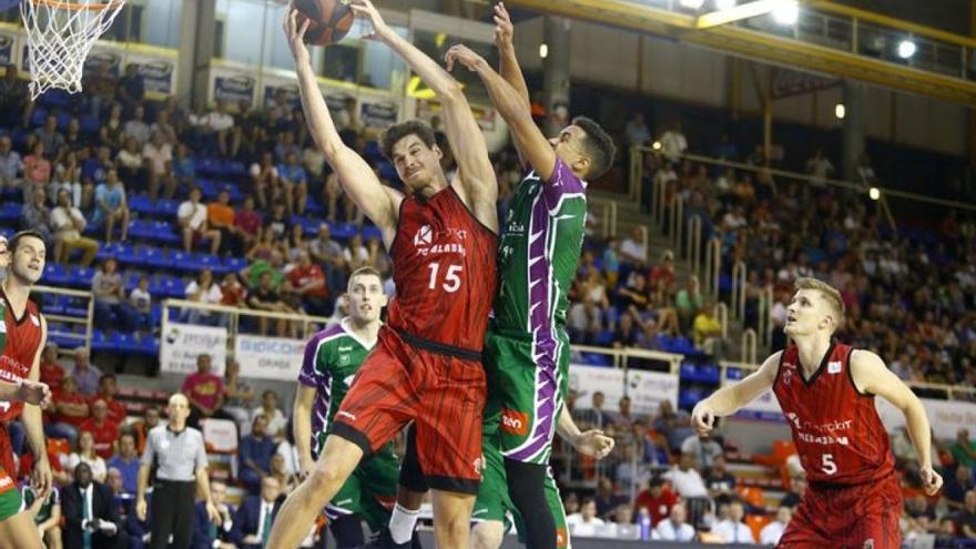
[[[497,240],[453,187],[404,199],[389,250],[397,295],[333,425],[368,456],[414,420],[435,489],[478,491]]]

